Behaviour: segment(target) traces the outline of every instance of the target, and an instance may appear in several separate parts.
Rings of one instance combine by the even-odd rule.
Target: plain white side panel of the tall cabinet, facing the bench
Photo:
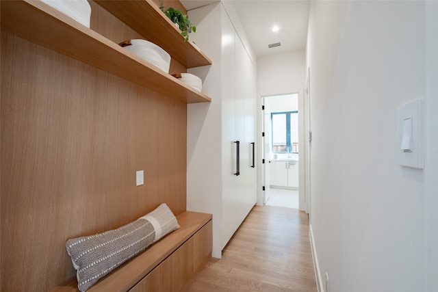
[[[187,105],[187,210],[213,214],[213,256],[221,257],[222,229],[222,91],[221,5],[207,5],[189,12],[196,23],[190,40],[211,59],[211,66],[188,70],[203,79],[203,93],[211,103]],[[218,25],[211,25],[218,23]],[[207,74],[208,73],[208,74]]]

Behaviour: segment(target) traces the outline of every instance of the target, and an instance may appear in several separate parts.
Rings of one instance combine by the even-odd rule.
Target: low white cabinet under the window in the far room
[[[272,161],[270,184],[298,189],[298,161]]]

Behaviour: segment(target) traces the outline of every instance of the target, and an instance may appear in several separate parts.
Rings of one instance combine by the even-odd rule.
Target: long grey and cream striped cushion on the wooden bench
[[[120,228],[88,237],[68,239],[66,248],[77,269],[80,291],[144,251],[152,243],[179,228],[166,204]]]

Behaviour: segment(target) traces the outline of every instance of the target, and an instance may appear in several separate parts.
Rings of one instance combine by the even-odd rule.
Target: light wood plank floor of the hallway
[[[255,206],[188,292],[317,291],[305,212]]]

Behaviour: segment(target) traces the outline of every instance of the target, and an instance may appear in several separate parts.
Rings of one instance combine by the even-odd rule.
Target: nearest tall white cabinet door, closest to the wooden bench
[[[237,229],[235,30],[222,8],[222,248]]]

